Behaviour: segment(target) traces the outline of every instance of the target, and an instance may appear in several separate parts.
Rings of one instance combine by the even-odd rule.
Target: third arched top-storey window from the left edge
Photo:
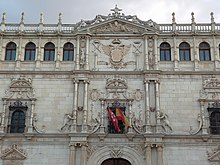
[[[44,61],[54,61],[55,46],[53,43],[48,42],[44,46]]]

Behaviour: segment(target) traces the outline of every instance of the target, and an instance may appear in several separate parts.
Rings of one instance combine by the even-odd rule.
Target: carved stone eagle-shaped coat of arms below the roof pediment
[[[123,57],[130,50],[130,46],[121,45],[119,39],[114,39],[112,43],[113,45],[103,45],[102,49],[104,53],[110,57],[109,61],[114,68],[123,68],[126,65],[123,61]]]

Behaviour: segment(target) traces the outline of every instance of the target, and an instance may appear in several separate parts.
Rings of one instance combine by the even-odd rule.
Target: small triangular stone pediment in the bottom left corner
[[[1,153],[1,159],[3,160],[24,160],[26,158],[27,154],[16,144],[13,144],[9,148],[6,148]]]

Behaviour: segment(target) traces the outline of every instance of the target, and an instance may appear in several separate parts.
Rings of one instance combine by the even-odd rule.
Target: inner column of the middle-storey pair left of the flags
[[[87,132],[87,114],[88,114],[88,84],[89,81],[84,81],[84,102],[83,102],[83,132]]]

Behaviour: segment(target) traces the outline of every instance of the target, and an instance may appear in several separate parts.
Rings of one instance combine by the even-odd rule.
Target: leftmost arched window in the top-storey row
[[[6,45],[5,60],[15,61],[15,59],[16,59],[16,47],[17,46],[14,42],[9,42]]]

